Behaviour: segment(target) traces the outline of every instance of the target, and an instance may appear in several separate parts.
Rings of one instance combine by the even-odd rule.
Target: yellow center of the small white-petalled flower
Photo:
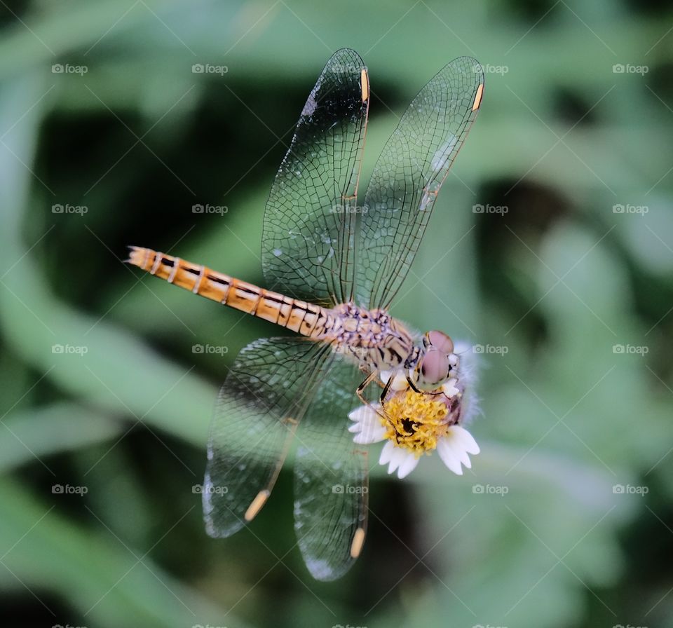
[[[409,449],[416,457],[435,449],[437,439],[447,433],[445,419],[449,409],[428,393],[397,392],[383,404],[383,410],[387,418],[381,418],[381,422],[386,428],[386,438]]]

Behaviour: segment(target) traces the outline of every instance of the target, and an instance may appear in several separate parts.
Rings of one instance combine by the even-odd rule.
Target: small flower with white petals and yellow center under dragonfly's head
[[[391,376],[383,372],[381,381],[387,383]],[[405,375],[394,377],[392,394],[383,404],[361,406],[348,414],[353,421],[348,428],[355,434],[353,441],[370,444],[386,440],[379,464],[387,464],[388,473],[397,471],[400,479],[416,468],[423,453],[434,449],[449,470],[462,475],[463,466],[472,466],[468,454],[480,449],[470,432],[458,425],[461,383],[450,378],[433,392],[419,392],[409,388]]]

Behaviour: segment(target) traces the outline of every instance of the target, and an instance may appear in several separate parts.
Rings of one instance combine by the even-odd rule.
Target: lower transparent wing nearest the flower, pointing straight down
[[[299,432],[294,463],[294,529],[317,580],[344,575],[360,554],[367,528],[367,455],[348,432],[364,376],[335,360]],[[373,387],[370,387],[373,388]]]

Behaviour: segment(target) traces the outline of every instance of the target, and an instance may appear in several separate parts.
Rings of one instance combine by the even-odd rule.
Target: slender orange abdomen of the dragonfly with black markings
[[[130,247],[127,260],[151,275],[206,299],[287,327],[310,338],[322,338],[328,315],[324,308],[271,292],[207,266],[142,247]]]

